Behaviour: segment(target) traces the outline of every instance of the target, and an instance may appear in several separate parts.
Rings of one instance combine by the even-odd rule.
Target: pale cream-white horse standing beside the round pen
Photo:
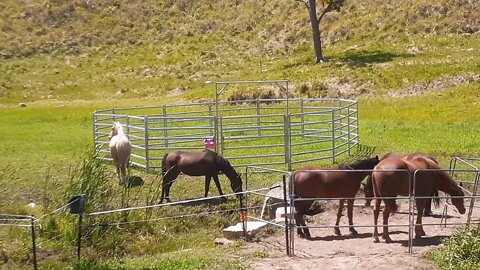
[[[121,185],[127,176],[127,166],[130,162],[132,144],[125,136],[120,122],[113,122],[112,131],[108,138],[110,139],[110,154],[117,167],[118,183]]]

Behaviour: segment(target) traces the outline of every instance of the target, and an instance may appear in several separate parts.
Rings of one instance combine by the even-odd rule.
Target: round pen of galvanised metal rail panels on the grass
[[[358,104],[348,99],[254,99],[93,113],[94,143],[110,159],[112,121],[132,142],[132,164],[161,168],[165,153],[211,148],[235,166],[292,165],[335,159],[358,145]]]

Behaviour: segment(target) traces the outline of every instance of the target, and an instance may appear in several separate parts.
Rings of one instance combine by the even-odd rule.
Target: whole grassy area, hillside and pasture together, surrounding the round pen
[[[478,3],[347,1],[340,13],[325,18],[329,61],[314,65],[308,14],[297,1],[187,2],[0,3],[1,213],[39,217],[78,192],[89,192],[91,211],[155,202],[157,175],[134,170],[145,184],[125,190],[111,164],[91,159],[91,113],[210,101],[214,84],[207,81],[288,79],[295,97],[358,99],[360,142],[373,154],[422,151],[444,167],[452,156],[480,156]],[[221,99],[278,96],[268,87],[238,87]],[[251,187],[278,179],[258,176]],[[201,179],[181,178],[172,187],[174,200],[202,194]],[[27,207],[30,202],[38,207]],[[225,211],[92,226],[81,262],[74,256],[76,219],[62,212],[42,221],[40,267],[248,269],[249,258],[268,251],[240,254],[241,241],[227,248],[213,244],[222,228],[238,221],[228,211],[235,207],[230,199],[90,220]],[[31,268],[29,241],[24,228],[0,227],[0,268]]]

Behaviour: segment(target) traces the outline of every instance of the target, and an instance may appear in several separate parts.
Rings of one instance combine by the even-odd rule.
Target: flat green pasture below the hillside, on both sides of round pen
[[[359,103],[360,142],[362,145],[374,148],[373,154],[378,155],[389,151],[427,152],[438,157],[444,167],[448,166],[452,156],[478,156],[480,109],[475,106],[479,101],[478,87],[478,83],[473,83],[416,97],[361,99]],[[126,102],[123,105],[130,106],[133,105],[132,103],[134,102]],[[139,104],[148,105],[146,102],[139,102]],[[90,153],[87,149],[92,147],[91,113],[95,109],[108,107],[108,105],[73,102],[65,106],[39,105],[1,109],[0,124],[7,127],[0,130],[3,140],[0,148],[0,155],[3,157],[0,160],[2,168],[0,209],[2,212],[41,216],[56,206],[64,204],[68,196],[75,194],[75,190],[82,190],[74,183],[80,179],[85,180],[79,175],[84,174],[84,172],[82,174],[82,168],[85,168],[85,160],[89,160],[88,153]],[[345,160],[349,159],[345,158]],[[92,208],[91,211],[156,203],[159,193],[157,175],[145,175],[142,170],[132,169],[131,173],[144,177],[145,184],[125,190],[116,184],[114,167],[111,164],[97,164],[94,161],[89,161],[87,164],[94,165],[93,168],[97,168],[95,170],[101,169],[102,174],[98,174],[97,177],[103,179],[103,182],[95,182],[97,183],[95,185],[104,187],[102,189],[104,193],[100,196],[102,199],[96,204],[98,209]],[[327,166],[328,162],[319,162],[316,165]],[[280,180],[279,175],[254,175],[249,178],[249,187],[270,186]],[[228,193],[230,191],[228,181],[224,177],[221,181],[224,192]],[[202,197],[203,185],[203,180],[199,178],[179,178],[172,186],[172,199]],[[210,194],[218,194],[213,184],[211,184]],[[40,204],[40,208],[34,210],[27,208],[26,204],[30,201]],[[260,205],[261,201],[261,198],[256,197],[250,199],[252,205]],[[188,215],[192,212],[218,210],[218,207],[220,210],[228,210],[238,207],[237,204],[235,199],[230,199],[227,204],[220,206],[207,208],[195,206],[188,209],[173,207],[152,212],[134,211],[128,214],[95,218],[96,221],[91,222],[138,221],[147,217],[154,219]],[[252,214],[254,213],[256,213],[255,210],[252,211]],[[73,254],[69,251],[74,247],[75,234],[72,232],[72,226],[75,224],[75,219],[68,214],[62,215],[64,215],[62,219],[52,218],[48,221],[48,226],[45,226],[47,229],[39,234],[39,238],[40,241],[58,238],[58,241],[47,241],[43,248],[45,252],[57,250],[59,253],[57,256],[64,257],[63,260],[68,263]],[[194,254],[202,253],[200,250],[203,249],[210,251],[213,248],[213,239],[221,237],[221,229],[233,224],[236,220],[238,220],[238,213],[227,211],[221,215],[199,218],[162,219],[142,223],[141,226],[136,224],[121,228],[98,227],[90,232],[92,239],[90,241],[93,242],[84,248],[84,254],[93,260],[90,263],[101,261],[100,265],[107,268],[115,268],[118,261],[106,262],[101,258],[112,255],[124,258],[122,260],[126,260],[126,265],[132,265],[134,269],[133,265],[138,259],[128,259],[134,254],[156,257],[159,256],[158,254],[172,254],[172,252],[178,254],[182,249],[193,249]],[[209,225],[199,227],[198,222]],[[169,229],[164,231],[164,228]],[[28,235],[17,229],[7,229],[7,232],[8,235],[17,235],[18,239],[8,245],[2,242],[1,248],[7,254],[18,256],[17,259],[13,256],[14,263],[8,265],[21,266],[26,263],[24,256],[28,256],[28,252],[24,250],[29,242]],[[1,233],[6,235],[7,232],[3,230]],[[140,242],[133,240],[138,239],[138,234],[142,235],[143,240]],[[116,247],[113,250],[112,245]],[[19,251],[21,252],[18,253]],[[211,259],[204,257],[174,259],[173,262],[162,255],[159,258],[161,263],[152,265],[171,263],[182,267],[181,265],[186,264],[186,269],[189,267],[203,269],[202,267],[220,263],[221,266],[231,265],[233,269],[243,267],[234,259],[219,262],[217,256],[221,257],[221,255],[218,252],[215,251],[216,255],[212,255]],[[54,258],[55,256],[52,259]],[[41,263],[45,266],[52,265],[52,267],[63,265],[49,258],[42,260]],[[85,265],[88,263],[85,262]]]

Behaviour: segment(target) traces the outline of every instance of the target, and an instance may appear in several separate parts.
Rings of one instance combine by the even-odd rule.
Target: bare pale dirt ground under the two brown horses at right
[[[357,203],[363,201],[357,200]],[[408,225],[408,202],[399,202],[399,212],[391,216],[389,224]],[[334,224],[336,204],[330,203],[326,211],[307,219],[309,226]],[[452,208],[448,211],[449,223],[464,222]],[[341,228],[342,236],[336,236],[333,228],[310,229],[312,240],[301,239],[295,235],[295,257],[286,256],[285,236],[277,235],[257,239],[248,243],[246,249],[263,251],[268,258],[258,258],[251,262],[252,269],[436,269],[423,254],[442,245],[442,240],[450,236],[455,226],[443,226],[441,214],[443,205],[433,209],[434,215],[423,218],[426,236],[413,241],[413,253],[408,253],[408,227],[391,227],[390,236],[393,243],[373,242],[373,228],[361,225],[373,224],[372,209],[363,206],[354,207],[354,224],[358,235],[349,234],[348,228]],[[340,224],[348,224],[346,210]],[[382,224],[380,213],[379,224]],[[458,228],[458,226],[457,226]],[[381,233],[381,228],[379,230]]]

